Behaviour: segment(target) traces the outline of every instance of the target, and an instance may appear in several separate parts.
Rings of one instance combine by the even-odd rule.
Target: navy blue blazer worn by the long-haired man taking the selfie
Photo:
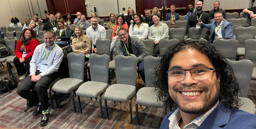
[[[169,112],[163,119],[160,129],[169,129]],[[256,129],[256,115],[240,109],[228,109],[222,102],[202,122],[197,129]]]

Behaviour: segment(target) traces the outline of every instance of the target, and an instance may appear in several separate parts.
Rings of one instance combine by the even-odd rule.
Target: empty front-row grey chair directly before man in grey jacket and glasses
[[[107,114],[106,118],[107,120],[109,118],[107,100],[114,102],[126,102],[129,100],[130,119],[131,124],[133,124],[131,102],[136,91],[137,57],[131,54],[129,56],[118,55],[115,57],[115,65],[117,84],[109,86],[104,95]]]

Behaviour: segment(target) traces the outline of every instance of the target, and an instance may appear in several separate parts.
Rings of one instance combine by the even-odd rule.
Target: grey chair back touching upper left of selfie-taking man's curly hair
[[[179,43],[180,41],[177,39],[171,39],[171,40],[167,40],[167,39],[161,39],[159,41],[159,51],[160,51],[160,55],[164,55],[165,53],[165,49],[169,46],[173,46],[177,43]]]

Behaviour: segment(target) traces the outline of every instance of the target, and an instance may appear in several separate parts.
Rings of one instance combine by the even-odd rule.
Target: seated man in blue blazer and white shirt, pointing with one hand
[[[207,29],[211,29],[210,43],[212,43],[213,40],[220,38],[223,38],[223,40],[228,40],[230,38],[235,39],[233,35],[232,23],[223,20],[223,15],[221,12],[215,12],[214,21],[211,24],[204,24],[201,19],[198,20],[198,24]]]

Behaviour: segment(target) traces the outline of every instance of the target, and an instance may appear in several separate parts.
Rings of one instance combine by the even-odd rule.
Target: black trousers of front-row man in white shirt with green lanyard
[[[36,71],[36,75],[41,72]],[[43,76],[37,82],[32,82],[31,77],[27,76],[21,84],[19,84],[17,88],[17,93],[20,97],[25,98],[29,101],[29,103],[37,106],[37,104],[41,103],[41,109],[48,109],[48,86],[56,79],[57,72],[53,74]],[[30,90],[32,89],[33,92]]]

